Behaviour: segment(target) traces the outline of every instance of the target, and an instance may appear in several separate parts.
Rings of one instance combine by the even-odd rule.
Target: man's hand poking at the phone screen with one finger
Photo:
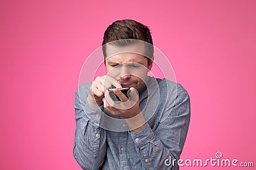
[[[102,99],[104,98],[104,91],[111,87],[122,87],[122,85],[110,76],[99,76],[93,82],[89,90],[87,102],[97,108],[102,105]]]

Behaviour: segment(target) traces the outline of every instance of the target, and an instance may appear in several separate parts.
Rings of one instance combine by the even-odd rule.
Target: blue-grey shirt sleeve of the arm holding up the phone
[[[155,131],[146,123],[138,132],[129,132],[145,169],[179,169],[177,164],[184,146],[190,121],[188,92],[178,84],[173,106],[166,104],[164,114]]]

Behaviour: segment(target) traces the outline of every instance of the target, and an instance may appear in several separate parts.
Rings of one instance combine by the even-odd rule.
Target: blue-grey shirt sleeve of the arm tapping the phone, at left
[[[106,130],[99,127],[100,108],[87,103],[88,85],[76,91],[76,134],[73,154],[83,169],[99,169],[106,155]]]

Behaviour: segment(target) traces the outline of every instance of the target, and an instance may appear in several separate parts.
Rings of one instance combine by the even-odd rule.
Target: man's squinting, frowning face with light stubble
[[[140,89],[151,67],[152,62],[148,63],[147,57],[138,53],[118,53],[106,59],[108,76],[118,80],[122,87]]]

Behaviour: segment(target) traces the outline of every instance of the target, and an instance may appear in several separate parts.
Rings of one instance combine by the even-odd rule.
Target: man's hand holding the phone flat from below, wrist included
[[[140,131],[145,125],[145,118],[140,110],[140,101],[136,89],[130,89],[129,99],[119,89],[115,89],[114,93],[122,103],[115,103],[109,95],[108,90],[106,90],[104,108],[112,115],[124,117],[131,132]]]

